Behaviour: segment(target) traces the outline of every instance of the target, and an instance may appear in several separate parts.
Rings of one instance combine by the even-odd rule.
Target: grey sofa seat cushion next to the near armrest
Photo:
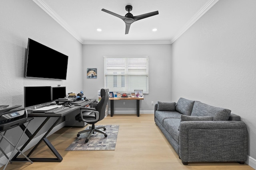
[[[180,119],[164,119],[163,126],[166,131],[168,131],[168,133],[174,138],[174,140],[179,143],[180,131],[178,131],[178,127],[180,126]]]

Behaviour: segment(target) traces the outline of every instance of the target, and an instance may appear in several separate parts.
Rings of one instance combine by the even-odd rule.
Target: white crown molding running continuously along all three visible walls
[[[219,0],[209,0],[192,18],[186,23],[184,27],[170,40],[148,40],[148,41],[83,41],[80,36],[64,21],[60,18],[54,10],[44,2],[44,0],[33,0],[42,10],[44,10],[49,16],[51,16],[56,22],[58,22],[66,31],[68,31],[74,38],[76,38],[81,44],[172,44],[176,41],[184,32],[186,32],[199,18],[201,18],[214,4]]]

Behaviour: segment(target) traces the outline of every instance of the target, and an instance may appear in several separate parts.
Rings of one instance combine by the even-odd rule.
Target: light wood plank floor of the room
[[[154,123],[153,114],[114,115],[98,125],[120,125],[115,150],[65,151],[81,127],[64,127],[48,137],[62,155],[62,162],[8,164],[6,170],[253,170],[237,162],[205,162],[183,165]],[[54,157],[40,146],[32,157]],[[38,156],[39,157],[39,156]],[[0,170],[2,170],[0,168]]]

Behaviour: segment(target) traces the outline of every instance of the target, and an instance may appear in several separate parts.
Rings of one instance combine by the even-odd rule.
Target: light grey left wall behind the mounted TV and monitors
[[[28,38],[68,55],[67,80],[25,78],[25,58]],[[82,44],[63,29],[32,0],[0,2],[0,105],[22,105],[24,86],[66,86],[67,92],[82,88]],[[58,63],[56,63],[58,64]],[[47,66],[46,66],[47,67]],[[77,71],[79,70],[79,71]],[[41,94],[43,95],[43,94]],[[36,98],[40,96],[35,95]],[[35,118],[28,129],[34,131],[42,119]],[[45,132],[42,130],[40,134]],[[6,136],[16,142],[19,127]],[[21,144],[26,138],[23,138]],[[3,140],[1,147],[8,153],[12,147]],[[2,153],[0,157],[3,156]]]

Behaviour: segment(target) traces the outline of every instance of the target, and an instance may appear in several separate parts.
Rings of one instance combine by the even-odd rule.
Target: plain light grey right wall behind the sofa
[[[199,100],[240,115],[248,127],[248,161],[254,168],[255,7],[255,0],[220,0],[172,44],[172,100]]]

